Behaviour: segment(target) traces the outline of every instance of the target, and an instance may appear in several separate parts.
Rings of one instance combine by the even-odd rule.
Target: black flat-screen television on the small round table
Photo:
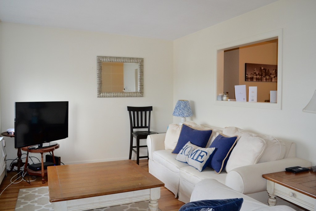
[[[15,148],[56,145],[68,137],[68,101],[15,102]]]

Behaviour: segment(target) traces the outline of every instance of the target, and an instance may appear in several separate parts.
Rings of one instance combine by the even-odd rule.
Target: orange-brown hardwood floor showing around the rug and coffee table
[[[147,159],[142,159],[139,161],[139,165],[148,171],[148,161]],[[8,176],[4,178],[3,182],[0,185],[0,193],[6,188],[11,182],[11,178],[14,177],[16,172],[9,172]],[[15,180],[14,177],[12,180]],[[30,177],[32,180],[32,177]],[[47,180],[47,177],[46,177]],[[17,182],[17,181],[16,181]],[[36,181],[31,182],[31,184],[22,181],[20,183],[11,184],[7,189],[3,191],[0,195],[0,211],[14,211],[15,202],[17,199],[17,195],[19,193],[19,189],[21,188],[33,188],[33,187],[40,187],[40,186],[47,186],[48,183],[42,184],[42,178],[36,177]],[[183,202],[178,201],[177,198],[174,198],[174,194],[170,192],[165,187],[161,187],[161,197],[158,201],[159,208],[161,211],[178,211],[179,208],[184,204]]]

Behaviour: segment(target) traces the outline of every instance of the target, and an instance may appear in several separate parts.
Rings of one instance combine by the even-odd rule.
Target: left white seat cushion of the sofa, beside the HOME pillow
[[[172,150],[157,150],[153,152],[153,160],[165,166],[170,171],[179,174],[179,169],[189,166],[186,163],[176,160],[177,155],[171,153]]]

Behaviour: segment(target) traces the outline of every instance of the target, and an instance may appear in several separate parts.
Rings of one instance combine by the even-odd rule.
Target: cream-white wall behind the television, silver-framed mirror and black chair
[[[10,23],[0,37],[2,131],[14,127],[14,102],[69,101],[69,138],[55,151],[65,164],[128,159],[126,106],[152,105],[153,131],[173,120],[172,41]],[[144,58],[144,97],[97,98],[97,56]]]

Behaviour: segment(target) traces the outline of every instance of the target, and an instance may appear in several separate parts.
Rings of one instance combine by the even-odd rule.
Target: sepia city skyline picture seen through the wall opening
[[[277,65],[245,63],[245,81],[277,82]]]

